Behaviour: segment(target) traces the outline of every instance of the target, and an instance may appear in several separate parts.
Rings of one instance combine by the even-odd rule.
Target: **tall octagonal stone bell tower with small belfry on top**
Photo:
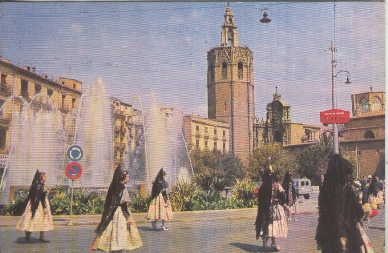
[[[255,119],[253,58],[240,47],[230,5],[224,14],[221,47],[208,52],[208,117],[229,123],[229,150],[244,164],[253,147]]]

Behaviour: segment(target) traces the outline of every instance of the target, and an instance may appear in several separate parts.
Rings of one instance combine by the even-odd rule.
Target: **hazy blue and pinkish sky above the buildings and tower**
[[[382,2],[231,2],[240,46],[253,52],[255,114],[266,115],[275,86],[291,120],[321,125],[332,107],[334,41],[338,108],[351,94],[385,90]],[[132,104],[151,91],[160,103],[207,116],[207,52],[220,47],[227,2],[2,2],[0,55],[66,77],[84,88],[101,77],[110,95]],[[269,8],[270,23],[260,23]],[[133,101],[138,107],[138,102]]]

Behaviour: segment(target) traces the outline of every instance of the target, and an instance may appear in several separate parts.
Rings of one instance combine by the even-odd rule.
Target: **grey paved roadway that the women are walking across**
[[[316,199],[317,194],[312,194],[309,200],[302,199],[298,221],[288,223],[288,238],[277,241],[281,252],[318,252],[314,240],[318,219]],[[133,252],[264,252],[262,241],[255,239],[255,208],[176,213],[174,220],[167,223],[169,231],[152,230],[145,216],[143,213],[133,214],[144,244]],[[67,226],[67,217],[55,216],[55,230],[46,234],[51,240],[48,244],[38,242],[37,232],[32,233],[32,243],[27,244],[24,233],[15,229],[19,217],[1,217],[1,252],[89,252],[100,217],[77,216],[74,223],[79,225]],[[372,219],[366,233],[374,252],[381,253],[385,237],[385,208]]]

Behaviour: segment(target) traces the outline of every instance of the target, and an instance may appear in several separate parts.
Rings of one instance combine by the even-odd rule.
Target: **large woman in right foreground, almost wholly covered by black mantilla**
[[[315,234],[322,253],[371,253],[372,244],[362,229],[364,216],[352,164],[334,154],[318,196],[319,218]]]

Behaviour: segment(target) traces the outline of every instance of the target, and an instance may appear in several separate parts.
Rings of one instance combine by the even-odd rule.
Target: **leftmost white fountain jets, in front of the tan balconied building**
[[[10,151],[1,178],[0,204],[7,204],[16,188],[28,188],[36,169],[47,173],[47,185],[65,184],[63,168],[66,132],[52,100],[36,94],[30,103],[10,96],[0,108],[10,122]]]

